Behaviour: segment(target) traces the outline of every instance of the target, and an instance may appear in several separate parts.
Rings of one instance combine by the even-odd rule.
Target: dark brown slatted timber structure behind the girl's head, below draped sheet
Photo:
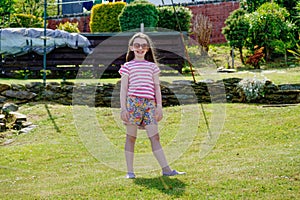
[[[83,49],[69,47],[57,48],[47,54],[46,69],[51,71],[81,71],[92,70],[103,73],[115,72],[125,62],[128,41],[132,34],[82,34],[90,41],[92,53],[86,55]],[[157,58],[162,70],[177,70],[182,72],[185,62],[184,45],[179,33],[158,32],[149,33],[154,42]],[[22,56],[1,56],[0,73],[9,71],[43,70],[43,56],[28,52]]]

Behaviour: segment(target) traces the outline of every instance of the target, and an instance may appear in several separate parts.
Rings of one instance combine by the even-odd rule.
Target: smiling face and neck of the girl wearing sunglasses
[[[135,38],[132,46],[130,46],[130,50],[134,52],[135,60],[144,60],[145,55],[149,50],[149,44],[146,39]]]

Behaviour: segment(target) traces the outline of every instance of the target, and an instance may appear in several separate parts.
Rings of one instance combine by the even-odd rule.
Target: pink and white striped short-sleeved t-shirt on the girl
[[[155,63],[132,60],[126,62],[119,73],[128,76],[128,96],[155,99],[153,75],[160,73]]]

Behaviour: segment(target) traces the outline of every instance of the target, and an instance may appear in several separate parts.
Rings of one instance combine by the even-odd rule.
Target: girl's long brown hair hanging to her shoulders
[[[141,32],[134,34],[131,37],[131,39],[129,40],[128,50],[127,50],[127,54],[126,54],[126,62],[129,62],[134,59],[134,52],[130,50],[130,46],[133,45],[133,42],[136,38],[145,39],[149,45],[149,49],[148,49],[147,53],[145,54],[145,60],[147,60],[149,62],[154,62],[157,64],[153,42],[148,35],[141,33]]]

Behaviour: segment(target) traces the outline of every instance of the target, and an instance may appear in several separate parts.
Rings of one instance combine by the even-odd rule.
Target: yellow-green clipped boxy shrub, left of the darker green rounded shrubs
[[[95,32],[119,32],[119,18],[126,3],[97,4],[91,11],[90,29]]]

